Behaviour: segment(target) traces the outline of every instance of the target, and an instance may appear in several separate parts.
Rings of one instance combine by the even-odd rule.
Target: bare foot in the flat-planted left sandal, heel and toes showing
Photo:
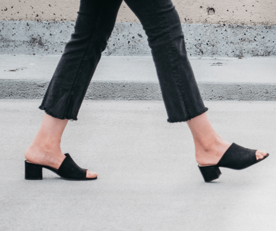
[[[65,155],[61,152],[59,147],[48,145],[31,144],[25,152],[25,158],[28,162],[34,164],[41,164],[59,169],[61,163],[65,159]],[[86,178],[95,178],[98,174],[92,171],[86,171]]]

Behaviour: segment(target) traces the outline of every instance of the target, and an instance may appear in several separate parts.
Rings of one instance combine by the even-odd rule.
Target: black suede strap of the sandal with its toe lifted
[[[217,167],[226,167],[231,169],[244,169],[257,163],[256,150],[244,148],[233,143],[223,154]]]

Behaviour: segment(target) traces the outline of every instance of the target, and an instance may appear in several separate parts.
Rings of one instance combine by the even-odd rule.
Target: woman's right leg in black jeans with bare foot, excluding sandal
[[[169,122],[188,121],[196,160],[217,164],[230,143],[212,128],[189,63],[179,16],[170,0],[125,0],[148,36]],[[256,151],[262,159],[266,151]]]

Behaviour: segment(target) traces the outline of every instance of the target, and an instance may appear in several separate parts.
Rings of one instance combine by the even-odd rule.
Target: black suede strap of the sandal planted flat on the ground
[[[57,174],[64,179],[86,179],[86,170],[80,168],[70,157],[68,153],[65,154],[65,159],[60,165]]]

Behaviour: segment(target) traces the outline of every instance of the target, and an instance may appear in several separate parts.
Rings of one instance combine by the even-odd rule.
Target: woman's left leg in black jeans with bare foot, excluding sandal
[[[122,0],[81,0],[75,32],[65,46],[40,109],[41,128],[25,153],[27,161],[58,169],[65,159],[60,140],[69,119],[77,114],[113,30]],[[87,171],[87,178],[96,173]]]

